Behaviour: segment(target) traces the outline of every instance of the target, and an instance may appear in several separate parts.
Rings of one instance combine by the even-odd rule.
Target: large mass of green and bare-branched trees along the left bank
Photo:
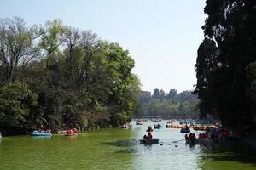
[[[0,129],[117,127],[131,120],[140,82],[118,43],[61,20],[0,20]]]

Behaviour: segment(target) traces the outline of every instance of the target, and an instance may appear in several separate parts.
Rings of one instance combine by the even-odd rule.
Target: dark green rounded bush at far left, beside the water
[[[28,127],[32,111],[36,107],[38,94],[20,82],[7,83],[0,88],[0,124],[1,127]]]

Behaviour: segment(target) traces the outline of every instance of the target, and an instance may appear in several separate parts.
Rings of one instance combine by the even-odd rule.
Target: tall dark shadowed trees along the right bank
[[[256,122],[256,2],[207,0],[195,94],[203,115],[230,127]]]

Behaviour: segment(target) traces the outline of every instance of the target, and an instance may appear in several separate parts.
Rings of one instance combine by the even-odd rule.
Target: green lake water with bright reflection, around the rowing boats
[[[190,147],[178,129],[155,129],[160,144],[146,146],[138,140],[148,125],[131,122],[130,129],[103,129],[79,136],[15,136],[0,139],[0,170],[252,170],[255,151],[240,142],[221,142],[211,146]],[[199,132],[196,132],[199,133]]]

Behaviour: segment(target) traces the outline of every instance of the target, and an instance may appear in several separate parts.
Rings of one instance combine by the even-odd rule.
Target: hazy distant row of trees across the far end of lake
[[[169,93],[154,89],[154,93],[141,91],[137,97],[135,116],[196,116],[198,99],[189,91],[177,94],[176,89]]]

